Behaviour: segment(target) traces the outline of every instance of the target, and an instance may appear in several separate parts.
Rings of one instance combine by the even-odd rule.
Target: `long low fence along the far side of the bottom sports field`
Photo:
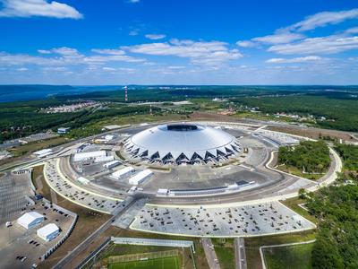
[[[168,256],[179,256],[179,250],[174,249],[174,250],[148,252],[148,253],[140,253],[140,254],[109,256],[108,263],[109,264],[127,263],[127,262],[147,260],[147,259],[150,260],[150,259],[164,258]]]

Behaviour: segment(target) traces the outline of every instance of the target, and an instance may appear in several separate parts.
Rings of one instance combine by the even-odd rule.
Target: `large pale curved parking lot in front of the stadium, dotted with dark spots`
[[[134,230],[208,237],[259,236],[314,227],[279,202],[200,209],[146,205],[131,225]]]

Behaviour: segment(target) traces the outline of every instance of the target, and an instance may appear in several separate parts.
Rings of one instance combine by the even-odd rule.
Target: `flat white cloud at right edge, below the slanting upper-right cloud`
[[[275,45],[268,48],[268,51],[284,55],[335,54],[357,48],[358,37],[328,36],[303,39],[302,41],[291,44]]]

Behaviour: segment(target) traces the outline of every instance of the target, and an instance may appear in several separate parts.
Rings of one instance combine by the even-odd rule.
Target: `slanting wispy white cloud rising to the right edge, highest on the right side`
[[[315,13],[305,18],[301,22],[294,23],[287,27],[288,30],[305,31],[313,30],[318,27],[324,27],[329,24],[337,24],[346,20],[358,19],[358,8],[340,12],[322,12]]]

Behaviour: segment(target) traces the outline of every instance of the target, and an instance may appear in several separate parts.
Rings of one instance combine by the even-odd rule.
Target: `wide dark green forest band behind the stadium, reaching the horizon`
[[[54,129],[58,126],[78,128],[100,117],[135,115],[146,113],[149,108],[141,107],[144,101],[171,102],[175,100],[192,100],[199,110],[226,108],[230,103],[258,107],[263,113],[277,112],[297,113],[306,116],[327,117],[315,126],[345,131],[358,131],[358,88],[353,86],[139,86],[129,85],[129,103],[136,103],[137,108],[124,104],[122,86],[51,86],[51,85],[1,85],[0,97],[7,91],[61,91],[49,95],[45,100],[28,100],[0,103],[0,143],[5,140]],[[214,102],[214,98],[225,101]],[[39,113],[40,108],[68,104],[81,100],[107,101],[114,106],[96,111],[82,110],[74,113],[46,114]],[[198,103],[197,100],[203,100]],[[215,104],[207,107],[205,102]],[[128,108],[124,108],[124,107]],[[76,135],[77,136],[77,135]]]

